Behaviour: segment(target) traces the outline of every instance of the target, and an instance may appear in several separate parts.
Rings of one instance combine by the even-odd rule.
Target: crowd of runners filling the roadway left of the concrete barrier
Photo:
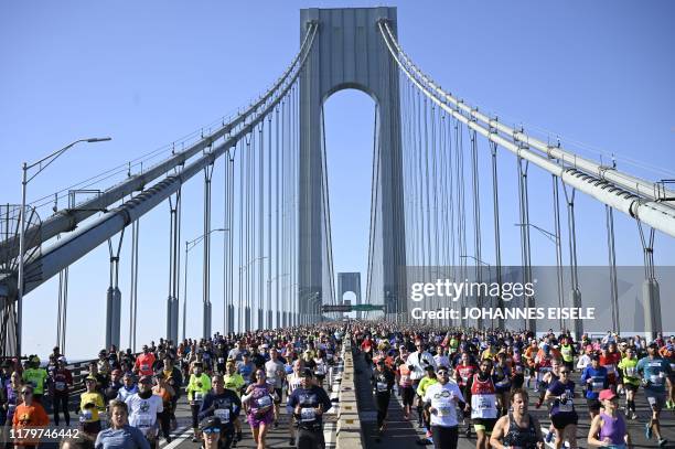
[[[6,360],[0,427],[12,435],[8,447],[34,447],[39,440],[22,430],[51,425],[65,430],[58,438],[62,447],[153,448],[160,436],[171,441],[179,427],[176,405],[183,400],[192,415],[192,441],[205,448],[236,447],[243,426],[249,426],[262,449],[269,429],[280,425],[288,427],[291,447],[321,448],[322,415],[332,407],[326,388],[336,374],[343,338],[342,324],[325,324],[179,344],[160,339],[139,354],[113,346],[88,364],[84,385],[74,384],[58,348],[46,365],[35,355],[23,364]],[[67,431],[73,428],[76,438]]]

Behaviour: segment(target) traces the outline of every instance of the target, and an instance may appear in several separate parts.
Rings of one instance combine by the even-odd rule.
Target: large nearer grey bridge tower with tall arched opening
[[[332,94],[355,88],[369,95],[376,105],[378,149],[374,157],[378,220],[376,244],[372,252],[372,279],[366,298],[385,302],[385,311],[403,311],[396,298],[406,297],[405,227],[398,70],[379,35],[377,23],[389,22],[396,31],[396,8],[303,9],[300,35],[315,22],[319,31],[300,77],[300,173],[299,173],[299,286],[300,314],[310,313],[311,295],[326,295],[328,255],[323,254],[324,216],[322,209],[323,104]],[[398,295],[385,296],[385,291]]]

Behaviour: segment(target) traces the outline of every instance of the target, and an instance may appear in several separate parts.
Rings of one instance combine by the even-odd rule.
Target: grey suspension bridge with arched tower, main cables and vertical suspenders
[[[660,293],[653,252],[655,234],[675,236],[672,183],[585,158],[468,104],[415,64],[399,43],[397,24],[395,8],[302,10],[300,50],[269,89],[238,114],[172,145],[164,159],[157,161],[150,153],[118,167],[115,170],[126,172],[126,178],[114,185],[92,190],[85,181],[24,205],[1,206],[2,353],[24,352],[23,303],[53,278],[58,279],[57,342],[65,346],[68,267],[101,245],[108,247],[110,265],[100,343],[120,346],[128,331],[125,341],[136,348],[139,265],[157,257],[139,253],[139,239],[153,233],[143,228],[143,217],[157,209],[167,210],[170,223],[168,279],[157,284],[158,290],[165,288],[165,300],[156,304],[165,323],[158,335],[173,341],[185,336],[185,310],[195,300],[186,298],[186,286],[194,282],[188,278],[188,260],[195,257],[203,266],[203,336],[340,319],[340,312],[322,312],[323,306],[342,304],[344,291],[340,288],[338,295],[335,288],[323,105],[342,89],[360,89],[376,104],[364,303],[382,306],[389,320],[410,321],[406,299],[413,275],[406,267],[422,267],[422,280],[439,277],[429,267],[453,267],[443,272],[447,278],[463,279],[472,272],[480,280],[489,266],[494,268],[491,280],[502,282],[507,276],[502,271],[505,247],[517,247],[518,276],[532,280],[532,254],[537,248],[531,233],[537,232],[555,246],[550,265],[556,268],[558,304],[582,308],[590,292],[579,281],[577,253],[582,248],[577,246],[580,217],[575,204],[585,195],[606,211],[583,220],[606,229],[606,310],[611,328],[620,330],[626,319],[621,317],[617,287],[617,246],[634,238],[642,246],[644,265],[636,299],[640,323],[631,330],[649,335],[663,331],[669,298]],[[24,165],[24,186],[65,150]],[[533,185],[533,172],[544,174],[546,182]],[[222,175],[218,185],[214,173]],[[517,182],[515,196],[504,192],[506,175]],[[199,199],[185,197],[189,183],[203,184]],[[212,216],[214,189],[223,192],[222,221]],[[549,192],[545,204],[529,201],[533,190]],[[66,200],[67,207],[56,206]],[[182,231],[186,220],[199,220],[183,213],[186,201],[203,202],[203,232],[193,239]],[[44,206],[52,203],[53,214],[45,214]],[[531,221],[533,209],[550,212],[549,231]],[[518,242],[503,242],[504,226],[513,225],[504,223],[505,210],[518,211]],[[634,222],[634,235],[617,239],[617,220]],[[223,247],[217,248],[223,271],[217,275],[211,269],[216,233],[223,235]],[[121,254],[128,242],[130,254]],[[119,287],[120,276],[126,276],[119,270],[122,257],[131,264],[128,295]],[[212,296],[213,276],[222,276],[225,286],[217,299]],[[360,282],[357,289],[361,296]],[[129,322],[122,327],[127,299]],[[214,301],[223,302],[222,318],[213,316]],[[505,306],[501,297],[476,301]],[[527,298],[524,306],[535,307],[536,298]],[[104,307],[103,301],[92,307]],[[366,312],[369,318],[379,316]],[[537,324],[527,319],[495,325],[536,331]],[[588,330],[580,320],[562,325],[576,335]],[[673,329],[671,322],[667,325]]]

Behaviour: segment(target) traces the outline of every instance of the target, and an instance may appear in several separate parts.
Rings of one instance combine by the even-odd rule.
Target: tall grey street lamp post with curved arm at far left
[[[96,142],[105,142],[108,140],[113,140],[109,137],[93,137],[89,139],[78,139],[72,143],[66,145],[61,150],[54,151],[47,157],[40,159],[36,162],[28,164],[23,162],[21,170],[23,171],[21,178],[21,212],[19,214],[19,274],[17,279],[17,356],[21,356],[21,328],[22,328],[22,314],[23,314],[23,285],[24,280],[24,253],[25,253],[25,186],[29,182],[31,182],[36,175],[39,175],[44,169],[50,167],[52,162],[54,162],[58,157],[61,157],[64,152],[73,148],[75,145],[79,142],[87,143],[96,143]],[[30,178],[28,175],[28,171],[38,167],[38,171],[33,173]]]

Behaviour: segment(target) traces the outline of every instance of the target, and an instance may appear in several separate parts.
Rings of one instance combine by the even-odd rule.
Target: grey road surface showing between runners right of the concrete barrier
[[[383,438],[378,441],[376,431],[376,406],[372,393],[372,386],[369,382],[371,368],[366,365],[366,362],[362,354],[355,354],[354,356],[354,371],[355,371],[355,383],[356,383],[356,399],[358,402],[358,414],[361,417],[361,428],[363,430],[364,447],[367,449],[410,449],[411,447],[421,447],[421,440],[425,435],[424,431],[417,428],[417,413],[414,410],[411,419],[415,421],[407,421],[403,418],[403,406],[400,398],[393,395],[389,402],[389,413],[387,419],[387,426]],[[579,373],[575,373],[572,379],[579,385]],[[529,410],[536,416],[543,426],[548,426],[550,423],[547,418],[547,411],[544,406],[536,409],[534,404],[536,398],[533,392],[529,389]],[[580,394],[577,391],[577,394]],[[620,404],[623,405],[624,399],[622,397]],[[629,421],[629,429],[631,438],[633,440],[633,447],[635,448],[655,448],[658,447],[656,438],[647,440],[644,436],[644,425],[650,411],[647,408],[646,399],[642,389],[638,393],[635,400],[638,408],[639,419],[636,421]],[[579,414],[579,427],[577,443],[580,448],[589,447],[586,442],[586,436],[590,426],[590,419],[588,416],[588,407],[586,406],[585,399],[576,399],[575,406]],[[462,430],[465,428],[461,426]],[[661,415],[661,428],[664,437],[668,440],[667,448],[675,448],[675,411],[664,410]],[[546,435],[546,429],[544,429]],[[548,445],[549,448],[554,448],[553,442]],[[475,448],[475,432],[472,430],[471,438],[460,432],[459,449],[474,449]]]

